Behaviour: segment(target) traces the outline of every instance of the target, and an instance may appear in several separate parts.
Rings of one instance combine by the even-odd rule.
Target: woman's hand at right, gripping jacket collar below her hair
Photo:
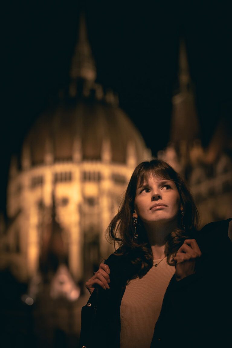
[[[174,258],[177,282],[196,272],[196,262],[200,256],[201,251],[196,240],[185,239]]]

